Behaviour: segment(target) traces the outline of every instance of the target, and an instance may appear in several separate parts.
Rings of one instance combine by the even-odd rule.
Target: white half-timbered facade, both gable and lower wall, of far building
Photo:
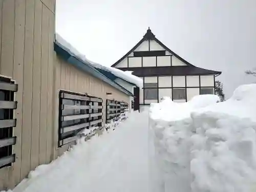
[[[165,96],[172,98],[175,102],[186,102],[196,95],[215,94],[215,75],[184,74],[166,76],[165,74],[164,76],[160,75],[161,73],[157,76],[148,75],[147,73],[152,74],[154,70],[164,67],[170,67],[170,69],[173,67],[175,70],[177,70],[177,67],[179,67],[179,70],[183,67],[191,69],[191,66],[187,66],[184,59],[170,53],[156,40],[144,40],[115,67],[121,70],[133,68],[132,71],[141,69],[142,74],[144,74],[140,75],[144,87],[140,90],[140,104],[160,102]],[[194,68],[196,67],[194,66]],[[145,69],[144,72],[142,69]],[[185,69],[183,71],[186,72]]]

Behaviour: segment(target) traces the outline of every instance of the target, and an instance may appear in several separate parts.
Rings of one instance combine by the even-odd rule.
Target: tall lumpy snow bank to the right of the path
[[[255,130],[256,84],[240,86],[224,102],[200,95],[186,103],[165,98],[152,104],[153,190],[256,191]]]

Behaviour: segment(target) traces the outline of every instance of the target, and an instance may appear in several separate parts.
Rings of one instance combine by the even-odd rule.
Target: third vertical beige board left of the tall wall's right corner
[[[26,1],[25,23],[25,55],[24,55],[24,90],[23,90],[23,127],[22,127],[22,170],[24,178],[31,166],[31,120],[32,120],[32,80],[33,80],[33,34],[34,34],[34,3]]]

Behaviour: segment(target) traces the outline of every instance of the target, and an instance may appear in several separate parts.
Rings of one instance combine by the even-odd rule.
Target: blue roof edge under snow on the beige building
[[[70,52],[66,47],[60,45],[57,41],[54,42],[54,51],[58,55],[60,55],[63,59],[65,59],[67,62],[71,63],[78,69],[80,69],[84,72],[87,72],[98,79],[101,79],[102,81],[110,84],[110,86],[125,93],[126,95],[134,96],[130,91],[128,91],[125,88],[123,88],[122,86],[120,86],[117,82],[109,79],[104,74],[99,72],[97,69],[95,69],[93,66],[91,66],[90,63],[84,62],[81,59],[77,58],[72,52]]]

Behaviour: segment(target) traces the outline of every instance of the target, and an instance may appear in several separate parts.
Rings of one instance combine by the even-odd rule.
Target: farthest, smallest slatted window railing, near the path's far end
[[[118,120],[125,111],[129,110],[129,104],[124,101],[106,99],[106,123]]]

